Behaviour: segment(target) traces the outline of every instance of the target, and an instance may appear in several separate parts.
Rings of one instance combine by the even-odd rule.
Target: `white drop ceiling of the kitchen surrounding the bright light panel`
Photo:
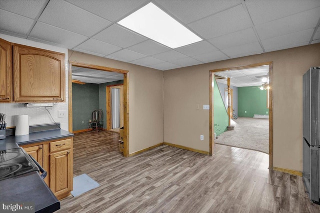
[[[203,41],[172,49],[117,24],[149,2]],[[319,25],[320,0],[0,0],[1,34],[159,70],[318,43]]]

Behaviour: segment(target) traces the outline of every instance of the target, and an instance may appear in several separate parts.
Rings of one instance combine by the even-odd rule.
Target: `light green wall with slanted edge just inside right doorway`
[[[220,135],[226,131],[227,126],[229,125],[229,117],[224,107],[223,99],[215,78],[213,86],[213,116],[214,132],[216,135]]]

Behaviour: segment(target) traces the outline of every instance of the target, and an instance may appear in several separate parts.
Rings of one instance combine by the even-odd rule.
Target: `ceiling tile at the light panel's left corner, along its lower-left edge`
[[[105,30],[99,32],[93,36],[93,38],[123,48],[140,43],[141,41],[147,39],[116,24],[113,24]]]

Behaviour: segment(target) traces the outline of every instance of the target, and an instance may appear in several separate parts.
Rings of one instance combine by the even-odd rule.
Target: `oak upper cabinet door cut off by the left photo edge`
[[[12,101],[12,45],[0,38],[0,102]]]

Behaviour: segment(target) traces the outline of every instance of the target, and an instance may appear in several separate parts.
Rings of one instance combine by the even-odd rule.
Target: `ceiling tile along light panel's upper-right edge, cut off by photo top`
[[[184,23],[190,23],[229,7],[240,4],[240,0],[156,0],[158,5],[174,14]]]

